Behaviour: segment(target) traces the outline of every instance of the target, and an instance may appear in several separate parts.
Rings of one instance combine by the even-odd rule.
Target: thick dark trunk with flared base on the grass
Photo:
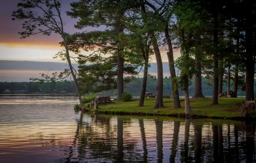
[[[192,99],[196,98],[202,98],[204,97],[203,92],[202,92],[202,74],[201,74],[201,61],[198,58],[197,55],[195,55],[195,88],[194,88],[194,95]]]

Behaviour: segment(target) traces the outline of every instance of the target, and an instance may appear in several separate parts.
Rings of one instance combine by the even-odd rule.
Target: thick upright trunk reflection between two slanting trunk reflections
[[[163,162],[163,121],[155,120],[156,144],[157,144],[157,162]]]

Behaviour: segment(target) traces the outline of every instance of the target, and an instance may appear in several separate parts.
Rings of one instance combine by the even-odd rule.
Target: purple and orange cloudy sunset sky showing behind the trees
[[[76,1],[76,0],[75,0]],[[61,41],[61,37],[58,34],[53,33],[51,36],[35,35],[30,36],[26,39],[20,39],[18,32],[22,31],[21,21],[12,21],[12,12],[17,10],[17,4],[21,0],[1,0],[0,5],[0,61],[3,63],[6,60],[13,60],[9,62],[9,66],[0,64],[0,82],[27,82],[30,77],[39,76],[40,72],[45,72],[49,68],[54,67],[61,71],[61,68],[66,64],[59,59],[53,59],[52,57],[58,53],[58,51],[63,50],[58,42]],[[76,24],[76,19],[68,17],[65,12],[70,10],[70,3],[73,0],[63,0],[62,3],[62,18],[65,22],[64,30],[67,33],[75,33],[78,30],[74,27]],[[97,28],[88,27],[84,30],[99,30]],[[165,47],[162,50],[162,61],[168,62]],[[174,59],[180,56],[180,51],[175,50]],[[92,51],[82,51],[82,54],[91,54]],[[75,54],[72,54],[75,55]],[[155,56],[152,55],[151,63],[155,64]],[[14,62],[15,61],[15,62]],[[22,61],[35,61],[37,64],[26,65]],[[40,68],[37,66],[39,62]],[[62,63],[60,65],[58,63]],[[17,66],[19,65],[19,66]],[[6,68],[4,67],[6,66]],[[26,66],[26,69],[21,68]],[[9,67],[7,69],[7,67]],[[13,67],[13,68],[12,68]],[[58,68],[57,68],[58,67]],[[167,67],[168,68],[168,67]],[[52,69],[52,68],[51,68]],[[155,67],[156,69],[156,67]],[[155,70],[151,69],[155,73]],[[164,66],[165,72],[165,66]]]

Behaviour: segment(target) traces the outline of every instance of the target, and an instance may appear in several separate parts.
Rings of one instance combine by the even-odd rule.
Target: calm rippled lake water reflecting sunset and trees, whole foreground
[[[0,96],[0,163],[255,162],[254,123],[93,115],[76,97]]]

